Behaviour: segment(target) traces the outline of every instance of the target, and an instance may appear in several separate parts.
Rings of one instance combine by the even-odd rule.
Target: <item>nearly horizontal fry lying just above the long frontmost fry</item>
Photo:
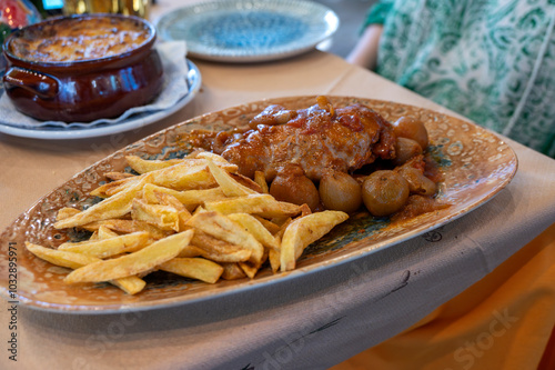
[[[77,243],[63,243],[58,250],[75,252],[95,258],[107,258],[125,252],[134,252],[151,242],[148,232],[133,232],[124,236],[118,236],[110,239],[100,239],[93,241],[80,241]]]

